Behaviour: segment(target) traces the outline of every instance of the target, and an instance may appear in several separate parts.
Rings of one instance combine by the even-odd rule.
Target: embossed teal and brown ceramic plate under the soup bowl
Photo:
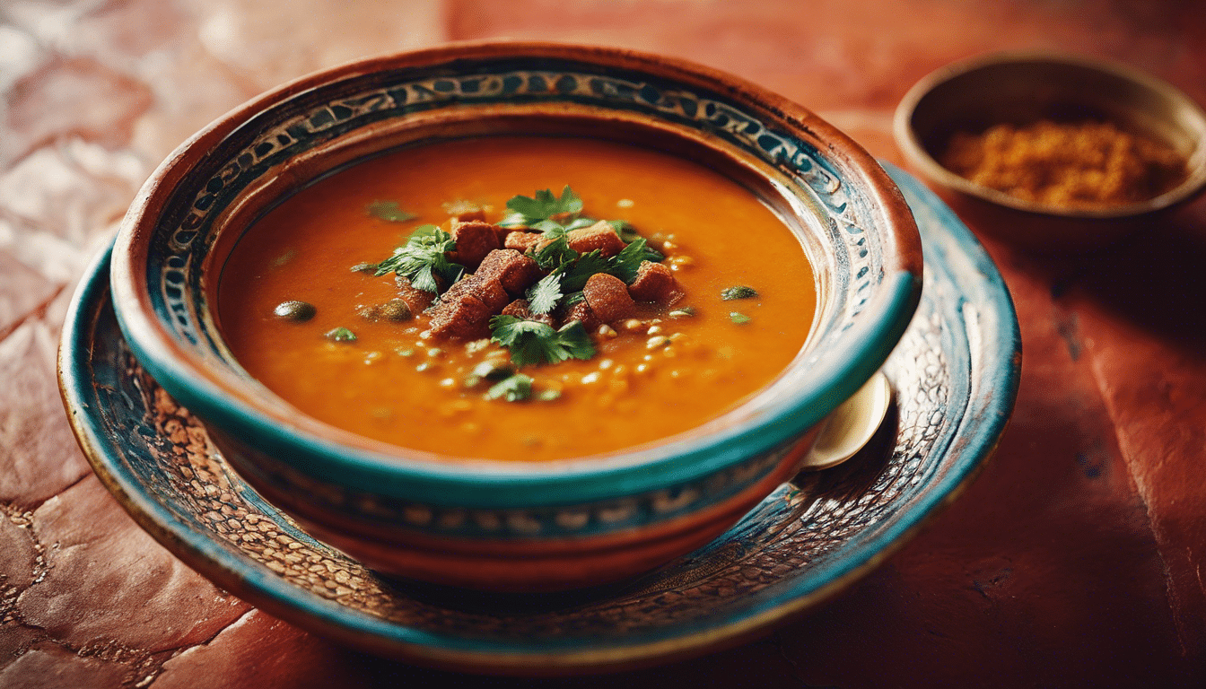
[[[890,169],[925,287],[884,372],[895,409],[859,456],[781,485],[708,547],[617,585],[497,595],[384,578],[264,502],[137,364],[109,256],[76,293],[63,395],[101,480],[160,543],[247,602],[359,648],[459,670],[598,670],[733,643],[882,562],[977,473],[1013,408],[1018,322],[996,267],[929,189]]]

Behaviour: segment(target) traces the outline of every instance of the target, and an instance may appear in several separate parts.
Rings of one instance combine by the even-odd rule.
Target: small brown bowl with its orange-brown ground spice
[[[1206,112],[1093,58],[947,65],[906,94],[894,128],[909,164],[973,227],[1029,250],[1107,245],[1206,188]]]

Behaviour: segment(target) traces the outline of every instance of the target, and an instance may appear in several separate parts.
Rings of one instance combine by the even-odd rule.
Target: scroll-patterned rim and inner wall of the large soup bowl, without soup
[[[210,309],[212,276],[239,232],[283,194],[397,146],[504,133],[602,135],[715,167],[789,221],[819,276],[813,335],[769,389],[689,437],[602,463],[568,459],[552,467],[561,478],[660,462],[699,474],[777,446],[857,390],[908,323],[920,288],[912,216],[866,152],[803,109],[703,68],[622,51],[461,46],[306,77],[182,146],[144,188],[115,250],[115,304],[131,348],[207,422],[300,462],[338,460],[333,475],[368,468],[365,486],[399,469],[546,478],[549,466],[491,462],[464,478],[463,468],[299,418],[250,380]],[[636,483],[656,480],[654,472]]]

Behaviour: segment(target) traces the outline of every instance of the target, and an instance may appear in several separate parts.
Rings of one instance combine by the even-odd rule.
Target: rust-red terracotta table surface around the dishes
[[[4,0],[0,687],[1206,687],[1206,202],[1094,256],[985,240],[1024,346],[995,459],[877,571],[745,646],[574,679],[423,670],[273,619],[146,536],[55,385],[87,259],[163,157],[240,101],[492,36],[726,69],[897,162],[907,88],[987,49],[1112,57],[1206,103],[1195,0]]]

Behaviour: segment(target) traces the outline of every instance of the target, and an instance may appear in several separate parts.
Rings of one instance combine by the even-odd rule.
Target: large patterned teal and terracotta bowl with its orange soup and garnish
[[[113,252],[144,367],[382,572],[548,590],[686,554],[791,478],[919,298],[876,160],[698,65],[461,43],[252,100]]]

